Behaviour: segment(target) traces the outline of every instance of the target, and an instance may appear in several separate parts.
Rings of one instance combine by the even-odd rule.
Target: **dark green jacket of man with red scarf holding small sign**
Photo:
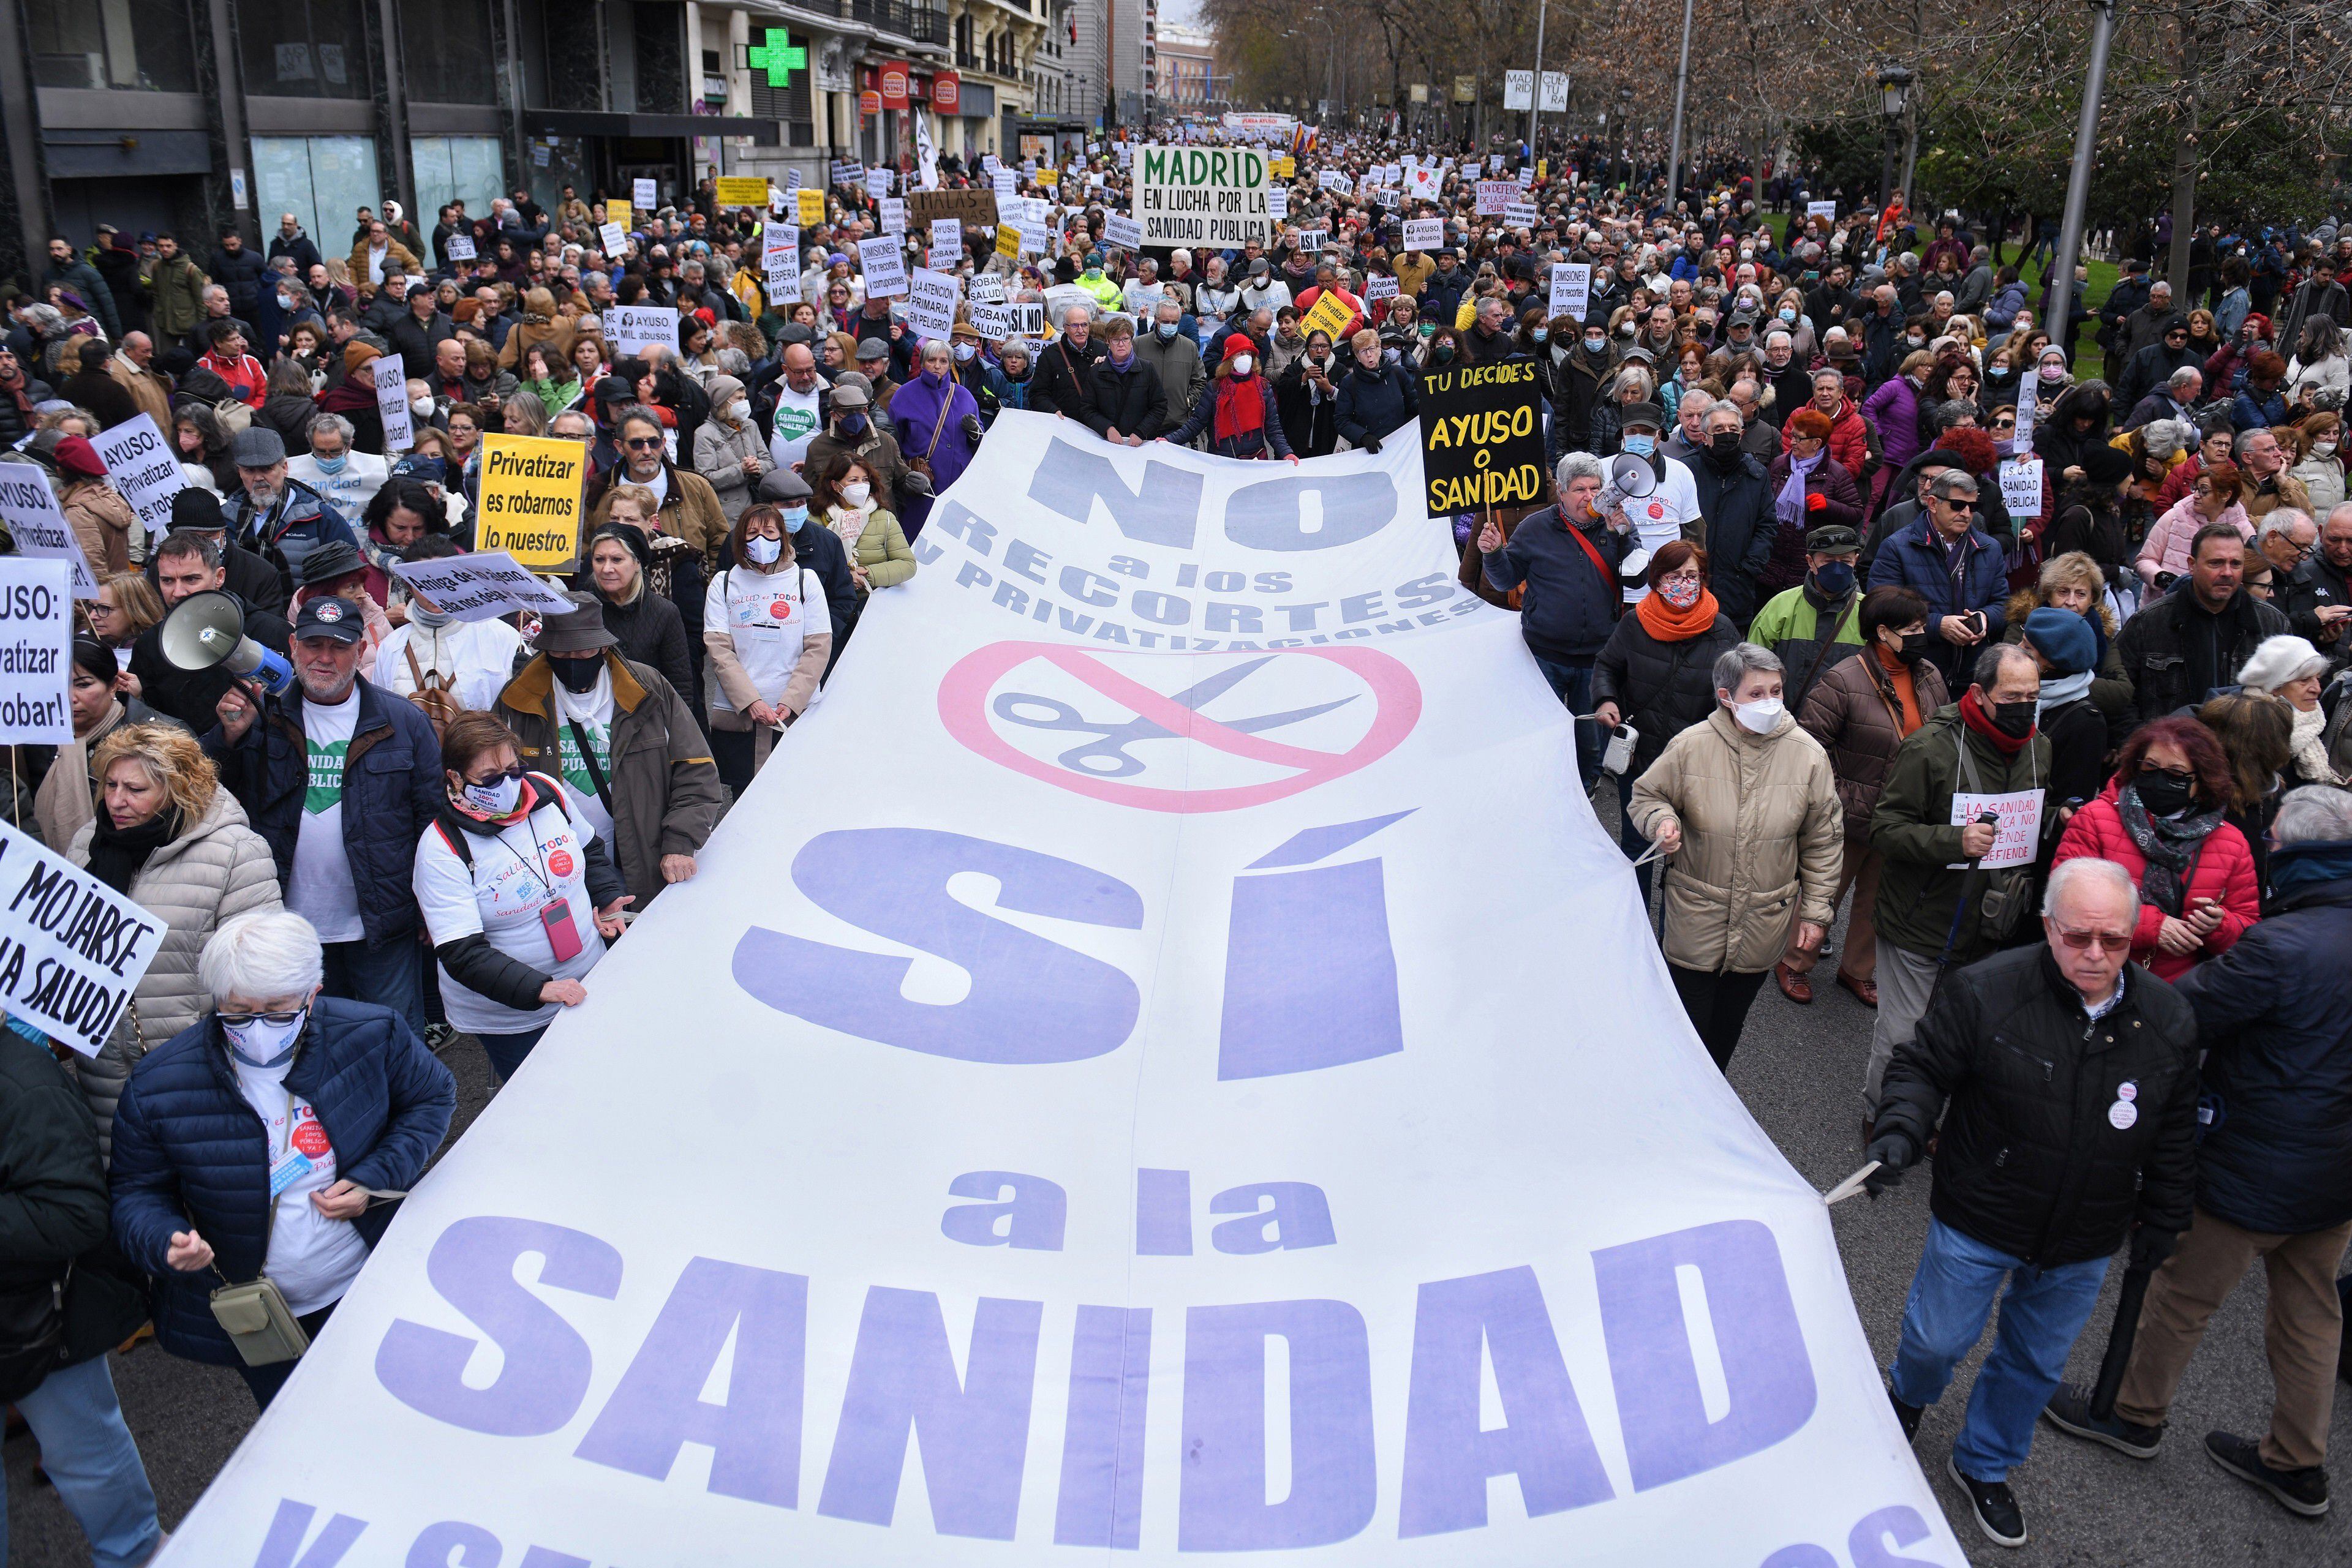
[[[2046,788],[2051,776],[2046,738],[2037,733],[2016,757],[2004,757],[1959,722],[1959,703],[1938,708],[1936,717],[1896,752],[1877,811],[1870,816],[1870,846],[1886,863],[1879,872],[1877,936],[1926,959],[1943,957],[1959,884],[1966,879],[1971,907],[1959,922],[1959,940],[1952,943],[1955,966],[1973,964],[1997,945],[1978,929],[1978,900],[1990,877],[1947,870],[1966,860],[1959,853],[1959,827],[1952,825],[1952,795],[1962,788],[1962,745],[1969,748],[1976,769],[1976,792],[2011,795]]]

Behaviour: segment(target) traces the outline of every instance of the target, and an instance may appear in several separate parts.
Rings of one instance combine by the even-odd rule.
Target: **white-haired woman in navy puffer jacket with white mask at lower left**
[[[440,1147],[456,1081],[400,1013],[320,994],[301,914],[223,924],[195,973],[214,1011],[148,1051],[115,1107],[115,1244],[158,1284],[158,1342],[235,1366],[266,1408],[294,1359],[247,1366],[212,1293],[268,1279],[306,1345]]]

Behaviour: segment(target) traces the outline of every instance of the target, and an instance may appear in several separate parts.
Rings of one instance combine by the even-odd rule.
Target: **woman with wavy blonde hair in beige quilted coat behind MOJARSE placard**
[[[66,858],[165,922],[115,1032],[96,1058],[78,1063],[99,1152],[111,1157],[115,1100],[132,1067],[212,1011],[195,959],[230,919],[278,907],[278,860],[186,729],[125,724],[99,741],[92,769],[103,802]]]

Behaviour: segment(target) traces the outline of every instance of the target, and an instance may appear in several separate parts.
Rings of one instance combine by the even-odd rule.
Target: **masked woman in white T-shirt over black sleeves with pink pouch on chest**
[[[612,849],[562,780],[524,773],[515,731],[461,712],[442,733],[445,799],[416,844],[416,907],[433,933],[449,1023],[499,1081],[532,1053],[633,903]]]

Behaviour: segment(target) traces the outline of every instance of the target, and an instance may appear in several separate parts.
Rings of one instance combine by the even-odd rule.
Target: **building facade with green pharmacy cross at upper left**
[[[1129,0],[1134,2],[1134,0]],[[99,221],[325,254],[360,207],[682,202],[710,174],[1002,150],[1056,0],[0,0],[0,273]]]

